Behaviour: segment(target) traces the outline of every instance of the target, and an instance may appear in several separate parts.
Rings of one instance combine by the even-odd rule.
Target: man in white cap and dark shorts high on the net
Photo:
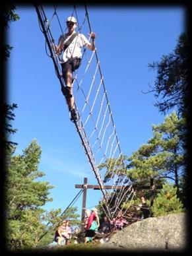
[[[94,51],[96,34],[94,32],[90,32],[89,36],[92,39],[92,42],[88,42],[84,34],[75,32],[75,28],[77,28],[77,19],[74,16],[69,16],[66,20],[66,24],[68,32],[59,37],[58,46],[55,46],[55,48],[58,55],[63,51],[63,57],[60,62],[65,86],[62,86],[61,90],[63,95],[66,96],[69,104],[71,121],[77,121],[78,117],[75,110],[75,100],[73,96],[73,72],[80,67],[82,59],[81,48],[85,46],[91,51]]]

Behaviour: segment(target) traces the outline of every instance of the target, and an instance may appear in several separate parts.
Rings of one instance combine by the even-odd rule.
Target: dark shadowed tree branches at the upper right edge
[[[160,112],[177,108],[182,116],[189,108],[189,38],[181,34],[173,53],[164,55],[159,62],[149,65],[157,70],[152,86],[154,96],[160,100],[155,104]]]

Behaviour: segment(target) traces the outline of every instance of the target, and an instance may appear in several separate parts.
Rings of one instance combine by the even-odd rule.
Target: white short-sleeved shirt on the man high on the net
[[[75,32],[74,32],[75,33]],[[73,33],[73,34],[74,34]],[[72,34],[72,35],[73,35]],[[71,35],[71,36],[72,36]],[[61,35],[59,37],[59,42],[58,44],[61,42],[61,49],[63,49],[65,42],[67,42],[67,40],[69,40],[69,38],[71,36],[67,36],[67,34]],[[71,44],[68,46],[67,49],[65,49],[65,51],[63,52],[63,57],[61,59],[61,63],[66,62],[68,59],[70,59],[71,57],[78,57],[81,58],[82,57],[82,53],[81,53],[81,48],[83,46],[90,46],[90,42],[88,42],[88,40],[86,39],[86,37],[83,34],[77,34],[77,36],[75,36],[75,38],[73,39],[73,41],[71,42]]]

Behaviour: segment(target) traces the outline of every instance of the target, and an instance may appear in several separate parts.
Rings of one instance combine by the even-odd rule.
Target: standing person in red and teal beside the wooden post
[[[100,220],[98,217],[98,210],[97,208],[93,208],[90,216],[88,217],[84,243],[87,243],[88,241],[92,241],[92,238],[95,236],[99,226],[100,226]]]

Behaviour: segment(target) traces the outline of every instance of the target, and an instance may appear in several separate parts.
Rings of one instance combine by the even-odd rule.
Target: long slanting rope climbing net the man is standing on
[[[59,19],[58,5],[54,6],[50,21],[42,5],[35,5],[35,8],[40,22],[40,29],[44,33],[46,46],[49,48],[49,57],[53,60],[55,73],[61,87],[65,86],[60,59],[55,53],[55,36],[51,31],[51,24],[55,20],[59,23],[61,34],[66,31],[66,28],[63,30]],[[77,18],[78,32],[86,31],[90,33],[92,28],[86,6],[83,17],[78,16],[77,7],[74,6],[71,16],[74,15]],[[66,16],[69,16],[69,14]],[[88,40],[90,40],[90,37]],[[80,141],[92,171],[100,185],[100,191],[103,195],[102,207],[108,218],[112,220],[122,203],[125,205],[133,195],[133,187],[126,174],[125,160],[119,145],[97,49],[94,49],[94,51],[83,49],[82,64],[75,71],[73,95],[75,108],[79,116],[79,119],[75,122],[75,127],[79,133]],[[104,184],[112,186],[110,192],[106,191]],[[121,189],[118,191],[114,189],[116,185],[121,186]],[[113,203],[113,210],[110,206],[112,201],[115,202]]]

